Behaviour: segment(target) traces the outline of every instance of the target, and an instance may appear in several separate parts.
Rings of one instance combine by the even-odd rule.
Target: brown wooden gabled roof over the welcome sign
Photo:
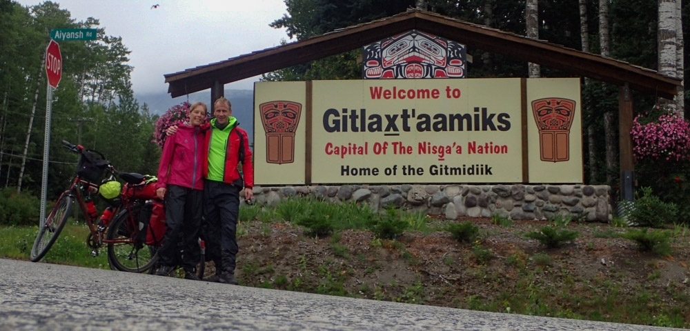
[[[421,10],[408,10],[391,17],[349,26],[303,41],[165,74],[165,82],[170,84],[168,93],[172,97],[179,97],[211,88],[216,82],[226,84],[255,77],[266,72],[353,50],[413,29],[463,43],[468,48],[504,54],[570,72],[580,77],[590,77],[617,86],[629,83],[629,87],[633,90],[667,99],[673,99],[681,82],[680,79],[666,77],[654,70],[633,66],[624,61]]]

